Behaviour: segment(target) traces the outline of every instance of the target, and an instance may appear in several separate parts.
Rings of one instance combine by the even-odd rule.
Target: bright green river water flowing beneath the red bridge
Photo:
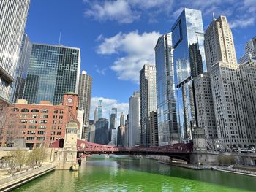
[[[256,177],[101,155],[88,158],[79,172],[50,172],[15,191],[256,191]]]

